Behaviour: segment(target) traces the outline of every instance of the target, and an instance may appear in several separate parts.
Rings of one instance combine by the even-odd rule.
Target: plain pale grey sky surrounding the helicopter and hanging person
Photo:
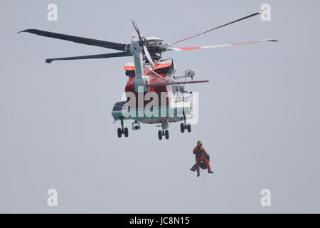
[[[58,21],[46,19],[58,5]],[[129,43],[176,41],[272,6],[272,21],[241,21],[179,46],[279,43],[170,52],[196,71],[200,120],[192,133],[154,125],[117,138],[111,108],[131,58],[61,61],[111,52],[19,33],[26,28]],[[319,1],[1,1],[0,212],[320,212]],[[125,123],[130,127],[131,122]],[[196,141],[214,175],[196,177]],[[206,187],[208,193],[206,192]],[[58,207],[46,192],[58,190]],[[260,190],[272,207],[260,205]]]

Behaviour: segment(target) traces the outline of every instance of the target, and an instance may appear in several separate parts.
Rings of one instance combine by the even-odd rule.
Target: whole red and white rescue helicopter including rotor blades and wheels
[[[262,43],[266,41],[276,41],[274,39],[265,39],[260,41],[250,41],[245,43],[229,43],[215,46],[193,46],[193,47],[174,47],[177,43],[186,41],[196,36],[201,36],[218,28],[234,24],[238,21],[249,19],[252,16],[258,16],[262,11],[250,14],[227,24],[210,28],[207,31],[197,33],[193,36],[182,38],[173,43],[164,43],[164,39],[158,37],[144,37],[140,33],[136,21],[132,20],[136,34],[132,35],[131,43],[114,43],[80,36],[70,36],[62,33],[53,33],[38,29],[26,29],[21,32],[33,33],[38,36],[58,38],[65,41],[82,43],[90,46],[99,46],[117,50],[114,53],[103,53],[90,56],[73,56],[64,58],[48,58],[46,63],[53,61],[66,61],[92,58],[117,58],[133,56],[133,62],[125,63],[124,70],[128,77],[125,86],[126,100],[119,101],[112,108],[112,117],[114,123],[120,121],[120,128],[117,128],[119,138],[124,135],[128,137],[129,130],[124,128],[124,120],[133,120],[132,130],[141,129],[140,123],[156,124],[161,127],[158,131],[158,138],[169,139],[169,123],[182,122],[180,124],[181,133],[191,132],[191,123],[187,120],[193,116],[193,93],[186,91],[185,85],[189,83],[207,83],[208,80],[193,81],[196,73],[187,69],[180,74],[176,74],[176,65],[172,58],[162,58],[162,53],[167,51],[189,51],[207,48],[220,48],[226,46],[238,46],[250,43]],[[190,78],[187,81],[187,78]],[[151,95],[150,95],[151,94]],[[163,95],[164,94],[164,95]],[[139,97],[148,97],[142,102]],[[158,98],[158,99],[156,99]],[[131,101],[131,103],[130,103]],[[130,103],[130,105],[128,105]],[[152,105],[150,105],[152,103]],[[148,114],[151,113],[152,115]],[[147,115],[148,114],[148,115]]]

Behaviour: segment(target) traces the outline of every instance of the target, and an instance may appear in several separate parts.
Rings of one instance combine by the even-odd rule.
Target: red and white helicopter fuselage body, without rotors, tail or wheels
[[[148,91],[137,92],[134,86],[135,71],[133,63],[124,66],[129,77],[125,86],[126,100],[114,105],[114,120],[134,120],[135,123],[168,123],[182,121],[192,111],[192,93],[184,91],[183,86],[161,85],[174,83],[174,62],[172,59],[156,63],[151,71],[144,70],[144,80]],[[161,86],[148,86],[148,85]],[[137,130],[134,127],[133,130]]]

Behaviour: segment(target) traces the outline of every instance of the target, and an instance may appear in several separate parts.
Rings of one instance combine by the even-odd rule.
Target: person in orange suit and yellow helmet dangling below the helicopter
[[[196,155],[196,164],[191,167],[191,171],[197,170],[197,177],[200,176],[200,168],[203,170],[208,169],[208,173],[213,173],[210,168],[210,156],[206,152],[205,148],[202,147],[201,141],[197,142],[197,146],[193,149],[193,154]]]

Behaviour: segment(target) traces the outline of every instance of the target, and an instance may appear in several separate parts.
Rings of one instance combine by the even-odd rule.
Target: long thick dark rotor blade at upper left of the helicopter
[[[100,40],[95,40],[92,38],[85,38],[85,37],[80,37],[80,36],[70,36],[70,35],[65,35],[65,34],[61,34],[61,33],[53,33],[50,31],[42,31],[42,30],[38,30],[38,29],[26,29],[23,31],[19,31],[19,33],[22,33],[22,32],[33,33],[38,36],[58,38],[60,40],[72,41],[75,43],[82,43],[82,44],[86,44],[86,45],[99,46],[102,48],[111,48],[111,49],[119,50],[119,51],[125,51],[125,47],[126,47],[126,44],[124,44],[124,43],[100,41]]]

